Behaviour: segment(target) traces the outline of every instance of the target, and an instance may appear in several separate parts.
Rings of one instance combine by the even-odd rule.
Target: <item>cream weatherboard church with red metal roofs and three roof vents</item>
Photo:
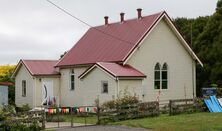
[[[59,61],[21,60],[14,72],[16,105],[90,106],[121,97],[141,101],[196,96],[203,65],[166,12],[90,28]]]

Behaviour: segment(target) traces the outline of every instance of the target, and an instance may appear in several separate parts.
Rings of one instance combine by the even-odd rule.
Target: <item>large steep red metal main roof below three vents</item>
[[[90,28],[56,66],[122,62],[162,14]]]

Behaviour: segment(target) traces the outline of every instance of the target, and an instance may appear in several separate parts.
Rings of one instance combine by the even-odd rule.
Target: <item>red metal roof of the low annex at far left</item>
[[[31,75],[58,75],[54,66],[57,60],[22,60]]]

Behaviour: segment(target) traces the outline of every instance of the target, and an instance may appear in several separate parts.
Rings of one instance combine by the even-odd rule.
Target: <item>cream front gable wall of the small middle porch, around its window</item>
[[[102,93],[102,81],[108,82],[108,93]],[[99,98],[100,103],[117,98],[117,81],[107,72],[94,68],[83,79],[81,94],[84,100],[83,105],[95,105]]]

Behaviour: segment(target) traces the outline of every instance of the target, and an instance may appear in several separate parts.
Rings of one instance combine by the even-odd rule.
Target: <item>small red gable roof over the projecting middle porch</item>
[[[109,73],[113,77],[146,77],[142,72],[138,71],[137,69],[133,68],[130,65],[120,65],[117,63],[108,63],[108,62],[97,62],[90,68],[88,68],[85,72],[83,72],[79,78],[82,79],[86,76],[89,72],[91,72],[94,68],[99,67],[100,69],[104,70],[105,72]]]

